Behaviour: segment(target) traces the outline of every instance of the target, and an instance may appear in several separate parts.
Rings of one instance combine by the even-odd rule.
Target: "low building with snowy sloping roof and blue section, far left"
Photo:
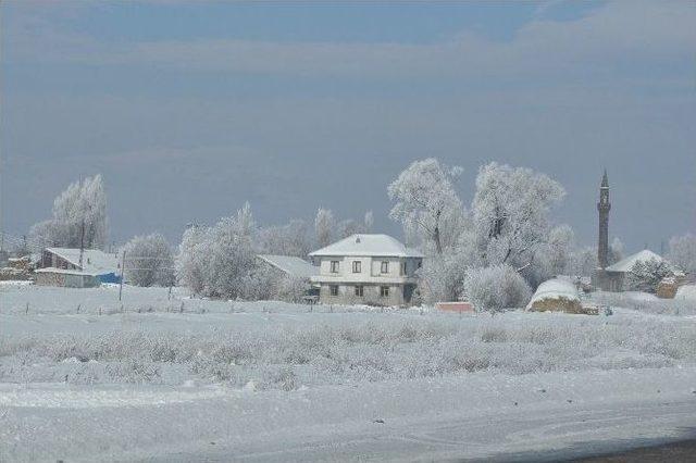
[[[119,283],[121,265],[116,254],[98,249],[46,248],[35,274],[37,285],[85,288]]]

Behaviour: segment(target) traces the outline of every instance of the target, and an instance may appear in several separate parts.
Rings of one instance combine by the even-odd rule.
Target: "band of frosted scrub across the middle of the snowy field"
[[[177,385],[196,379],[293,390],[478,371],[519,375],[696,364],[693,327],[679,321],[506,313],[452,323],[442,314],[374,315],[352,314],[343,326],[327,325],[302,309],[294,317],[307,316],[307,323],[295,328],[245,317],[258,324],[191,330],[184,322],[177,330],[162,331],[148,328],[161,320],[148,325],[144,317],[141,330],[37,335],[10,329],[0,336],[0,381]]]

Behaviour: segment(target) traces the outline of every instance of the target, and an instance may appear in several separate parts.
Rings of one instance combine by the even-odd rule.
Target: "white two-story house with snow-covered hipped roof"
[[[388,235],[352,235],[311,252],[322,303],[408,305],[423,254]]]

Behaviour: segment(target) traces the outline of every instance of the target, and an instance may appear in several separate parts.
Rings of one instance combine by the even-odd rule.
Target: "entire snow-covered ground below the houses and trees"
[[[122,309],[116,287],[2,285],[0,460],[557,460],[679,438],[696,427],[696,318],[648,312],[310,311],[132,287]]]

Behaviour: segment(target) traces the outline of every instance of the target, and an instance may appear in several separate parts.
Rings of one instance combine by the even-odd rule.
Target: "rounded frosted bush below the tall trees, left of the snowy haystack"
[[[510,265],[470,270],[464,293],[477,311],[490,312],[524,306],[532,296],[524,278]]]

